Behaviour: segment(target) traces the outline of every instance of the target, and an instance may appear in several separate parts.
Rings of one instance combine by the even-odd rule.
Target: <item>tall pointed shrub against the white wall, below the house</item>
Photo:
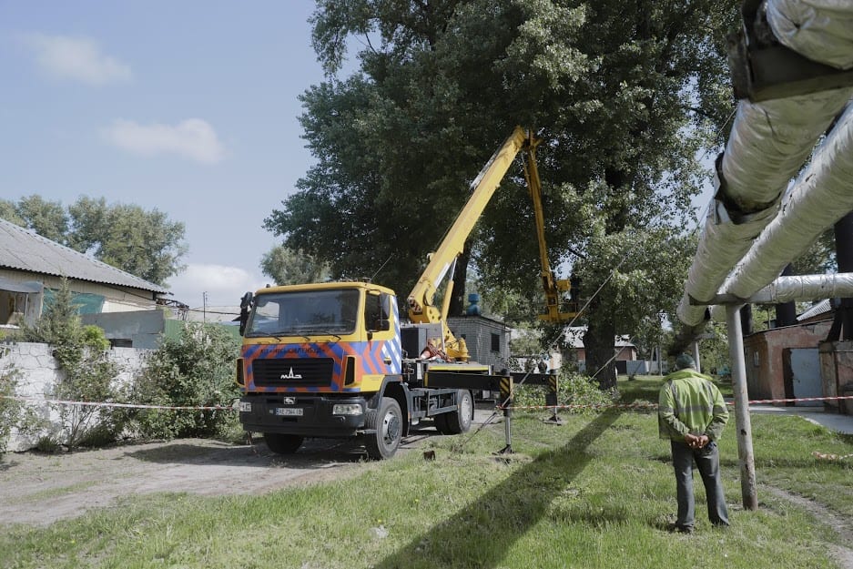
[[[114,381],[117,365],[107,357],[109,340],[97,326],[83,326],[74,304],[74,294],[67,279],[62,279],[54,302],[32,327],[23,326],[25,341],[45,342],[62,372],[50,389],[50,396],[62,401],[115,401],[118,397]],[[122,414],[114,409],[92,405],[54,404],[59,415],[63,440],[75,448],[91,432],[110,432],[101,439],[115,440],[123,428]]]

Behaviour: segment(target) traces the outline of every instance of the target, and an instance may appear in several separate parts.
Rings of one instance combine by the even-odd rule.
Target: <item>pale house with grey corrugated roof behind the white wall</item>
[[[34,322],[68,279],[81,314],[154,310],[168,290],[0,219],[0,327]]]

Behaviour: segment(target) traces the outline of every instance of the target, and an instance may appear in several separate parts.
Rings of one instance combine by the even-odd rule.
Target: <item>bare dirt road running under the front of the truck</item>
[[[417,432],[398,452],[411,452],[430,436],[439,435],[432,429]],[[306,441],[290,456],[269,452],[262,441],[232,445],[204,439],[61,454],[9,452],[0,462],[0,524],[46,525],[140,493],[265,493],[374,465],[358,443],[324,440]]]

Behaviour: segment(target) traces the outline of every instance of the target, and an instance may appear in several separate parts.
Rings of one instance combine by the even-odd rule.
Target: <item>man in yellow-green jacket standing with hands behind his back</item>
[[[728,510],[720,480],[720,454],[716,442],[728,421],[723,395],[706,375],[696,371],[688,354],[675,360],[675,369],[664,378],[658,401],[660,437],[672,447],[678,517],[668,529],[692,533],[696,522],[693,496],[693,465],[702,476],[708,502],[708,519],[728,526]]]

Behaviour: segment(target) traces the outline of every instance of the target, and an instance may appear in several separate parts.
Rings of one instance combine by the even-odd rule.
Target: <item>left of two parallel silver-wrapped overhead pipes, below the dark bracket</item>
[[[678,318],[694,326],[728,273],[777,215],[779,199],[853,89],[740,101],[726,152],[717,158],[718,188],[678,306]],[[778,273],[777,273],[778,274]]]

